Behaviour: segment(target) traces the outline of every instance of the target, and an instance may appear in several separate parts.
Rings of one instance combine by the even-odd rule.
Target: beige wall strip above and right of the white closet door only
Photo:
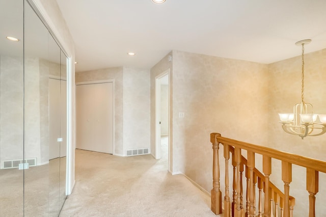
[[[114,79],[115,154],[123,154],[123,67],[76,73],[76,83]]]

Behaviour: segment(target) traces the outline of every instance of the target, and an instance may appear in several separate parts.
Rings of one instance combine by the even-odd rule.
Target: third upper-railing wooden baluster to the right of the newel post
[[[255,216],[255,204],[254,204],[254,168],[255,168],[255,152],[247,151],[248,157],[248,169],[249,169],[249,216]]]

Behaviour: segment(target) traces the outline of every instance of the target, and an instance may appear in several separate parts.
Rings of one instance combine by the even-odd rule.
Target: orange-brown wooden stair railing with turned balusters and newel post
[[[220,133],[211,133],[213,145],[213,188],[211,210],[222,213],[222,192],[220,189],[219,145],[224,146],[225,197],[224,216],[280,216],[292,217],[295,199],[289,195],[292,181],[292,164],[307,168],[307,191],[309,193],[309,217],[315,216],[315,195],[318,193],[318,173],[326,173],[326,162],[275,149],[224,138]],[[241,155],[247,150],[247,158]],[[232,156],[232,196],[229,190],[229,159]],[[262,155],[263,173],[255,168],[255,153]],[[284,193],[269,181],[271,159],[282,162]],[[243,171],[246,169],[246,204],[243,204]],[[256,188],[258,192],[256,194]],[[264,193],[264,197],[262,195]],[[256,198],[258,195],[258,199]],[[232,199],[232,202],[231,202]],[[256,202],[258,200],[258,207]],[[262,210],[264,207],[264,210]]]

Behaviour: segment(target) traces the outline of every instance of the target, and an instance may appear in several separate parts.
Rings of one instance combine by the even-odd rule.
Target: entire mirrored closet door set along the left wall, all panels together
[[[58,216],[67,58],[28,1],[0,1],[0,16],[0,216]]]

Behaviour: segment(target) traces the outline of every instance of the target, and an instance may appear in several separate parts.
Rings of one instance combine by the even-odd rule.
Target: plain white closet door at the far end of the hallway
[[[113,83],[76,86],[76,148],[113,152]]]

